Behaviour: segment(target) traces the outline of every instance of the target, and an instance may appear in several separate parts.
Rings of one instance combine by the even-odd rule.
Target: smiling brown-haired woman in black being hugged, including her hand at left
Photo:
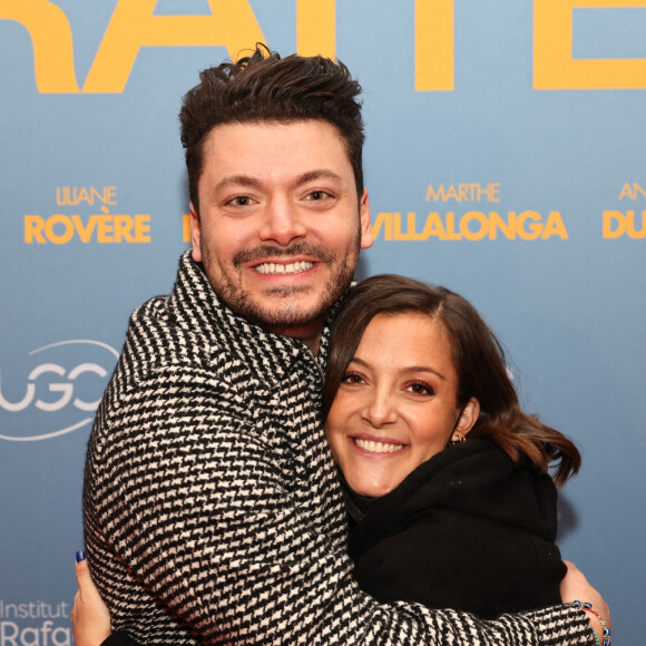
[[[464,298],[392,275],[355,286],[332,329],[323,415],[365,591],[483,618],[561,603],[547,470],[557,462],[560,486],[580,457],[520,410],[502,349]],[[107,615],[89,617],[104,609],[79,608],[77,644],[100,643]]]

